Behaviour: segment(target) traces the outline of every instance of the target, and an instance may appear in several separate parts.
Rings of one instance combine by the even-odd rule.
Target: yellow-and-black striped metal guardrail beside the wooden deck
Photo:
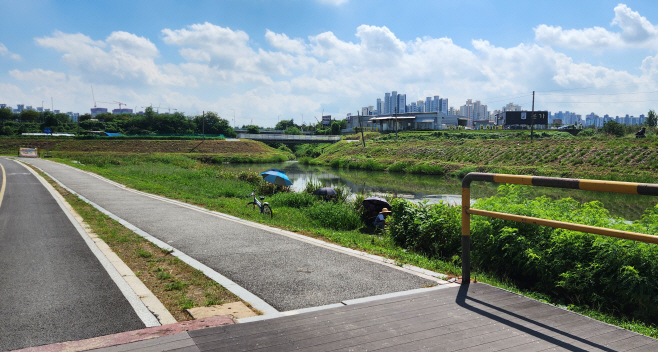
[[[658,196],[658,184],[471,172],[467,174],[462,181],[462,284],[469,283],[471,280],[471,215],[488,216],[491,218],[523,222],[526,224],[556,227],[567,230],[658,244],[658,236],[652,236],[643,233],[606,229],[603,227],[573,224],[569,222],[499,213],[488,210],[472,209],[470,200],[471,182],[473,181]]]

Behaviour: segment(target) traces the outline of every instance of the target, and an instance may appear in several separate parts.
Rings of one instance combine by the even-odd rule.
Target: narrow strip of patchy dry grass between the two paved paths
[[[76,195],[69,193],[47,175],[39,170],[36,171],[66,199],[92,231],[136,273],[177,321],[192,319],[186,309],[240,300],[201,271],[172,256],[171,250],[162,249],[145,240]],[[245,304],[249,306],[248,303]]]

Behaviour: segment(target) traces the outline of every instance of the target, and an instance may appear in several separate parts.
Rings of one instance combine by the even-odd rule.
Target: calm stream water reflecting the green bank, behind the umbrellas
[[[233,170],[256,172],[263,172],[272,168],[282,170],[293,182],[292,188],[295,191],[303,190],[309,180],[316,179],[326,186],[349,187],[354,193],[364,191],[373,195],[389,193],[411,201],[425,200],[429,203],[445,201],[452,205],[461,205],[461,180],[452,177],[333,169],[323,166],[302,165],[295,161],[267,164],[226,164],[225,167]],[[498,184],[488,182],[473,182],[471,184],[471,202],[495,195],[498,186]],[[579,202],[598,200],[603,203],[612,216],[622,217],[627,220],[640,219],[647,208],[658,204],[658,197],[524,187],[528,187],[530,195],[533,197],[572,197]]]

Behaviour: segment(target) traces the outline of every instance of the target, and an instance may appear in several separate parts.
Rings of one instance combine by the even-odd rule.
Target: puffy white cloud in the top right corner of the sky
[[[611,32],[602,27],[562,29],[545,24],[535,28],[535,40],[555,47],[578,50],[619,49],[625,47],[656,49],[658,28],[630,7],[619,4],[614,9],[611,25],[621,32]]]

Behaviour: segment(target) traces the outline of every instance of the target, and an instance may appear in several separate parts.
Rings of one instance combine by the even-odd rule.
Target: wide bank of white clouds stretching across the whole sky
[[[278,115],[297,121],[303,113],[309,122],[322,109],[341,118],[361,106],[374,105],[384,92],[392,90],[406,93],[407,102],[440,95],[458,107],[472,98],[488,104],[491,110],[507,102],[489,102],[488,97],[533,90],[624,84],[624,92],[637,92],[641,99],[641,91],[658,89],[655,83],[639,88],[639,82],[658,81],[658,55],[641,63],[638,59],[636,66],[642,65],[642,73],[632,75],[577,63],[554,49],[557,44],[609,48],[617,45],[614,40],[626,46],[647,45],[653,40],[653,27],[646,19],[635,16],[624,5],[615,12],[614,25],[622,29],[620,33],[598,27],[564,31],[544,25],[535,30],[538,44],[507,48],[486,40],[473,40],[468,46],[459,46],[450,38],[419,37],[405,42],[385,26],[365,24],[350,38],[338,38],[327,31],[299,39],[266,30],[264,39],[271,50],[259,48],[244,31],[207,22],[163,29],[162,40],[178,49],[182,63],[161,57],[164,54],[158,47],[138,34],[113,32],[104,40],[93,40],[81,33],[55,32],[36,38],[36,42],[60,52],[70,72],[12,70],[9,76],[25,92],[22,94],[39,102],[49,94],[68,94],[77,96],[71,103],[87,109],[91,82],[97,98],[108,97],[99,100],[135,102],[136,106],[161,104],[187,113],[213,110],[224,116],[232,115],[233,108],[239,125],[253,118],[266,126],[276,123],[272,119]],[[551,40],[552,44],[546,42]],[[610,97],[573,94],[551,99],[539,93],[537,108],[633,113],[628,104]],[[526,100],[516,102],[529,107],[529,98]],[[595,103],[583,104],[590,100]]]

